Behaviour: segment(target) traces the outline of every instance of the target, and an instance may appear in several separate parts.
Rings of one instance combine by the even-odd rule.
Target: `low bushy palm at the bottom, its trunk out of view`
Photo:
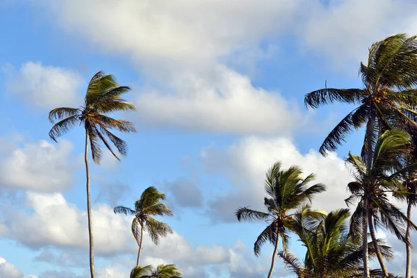
[[[300,278],[352,277],[363,275],[361,270],[362,248],[352,240],[345,221],[350,217],[349,210],[341,208],[327,214],[311,211],[308,205],[302,206],[293,215],[293,231],[306,247],[303,262],[290,252],[279,252],[287,268]],[[382,254],[393,258],[391,248],[378,240]],[[371,257],[375,257],[373,243],[368,243]],[[372,273],[377,272],[373,270]]]

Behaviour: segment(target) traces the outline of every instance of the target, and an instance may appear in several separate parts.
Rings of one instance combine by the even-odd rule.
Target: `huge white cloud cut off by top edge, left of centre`
[[[288,0],[124,0],[105,5],[99,0],[44,1],[62,28],[81,33],[103,49],[142,63],[194,65],[212,63],[284,28],[297,4]],[[162,70],[159,65],[158,69]]]

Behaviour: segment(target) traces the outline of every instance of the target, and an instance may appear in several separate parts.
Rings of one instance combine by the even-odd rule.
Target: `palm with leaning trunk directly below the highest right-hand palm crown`
[[[389,199],[389,195],[392,193],[400,195],[400,193],[405,192],[402,175],[417,168],[417,163],[414,163],[398,169],[398,156],[408,152],[409,143],[410,137],[407,133],[391,129],[385,131],[377,140],[370,168],[359,156],[350,153],[347,157],[347,163],[352,165],[355,170],[354,177],[356,181],[347,185],[351,195],[345,201],[348,205],[351,205],[359,199],[357,208],[350,220],[350,231],[354,236],[360,233],[358,227],[361,226],[363,213],[366,211],[370,236],[373,240],[377,259],[386,277],[389,274],[383,256],[379,252],[375,229],[389,229],[407,245],[410,243],[405,236],[405,227],[409,224],[411,225],[410,229],[411,227],[417,229],[410,218],[407,218],[399,208],[391,204]]]

